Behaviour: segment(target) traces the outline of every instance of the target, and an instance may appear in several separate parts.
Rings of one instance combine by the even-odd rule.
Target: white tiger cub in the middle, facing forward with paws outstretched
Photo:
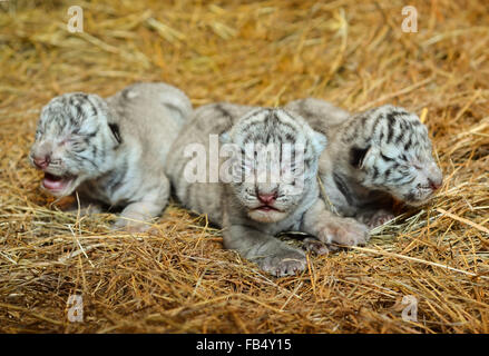
[[[213,161],[215,154],[209,145],[217,135],[222,144],[234,149],[228,160],[224,159],[226,155],[221,155]],[[296,165],[299,159],[281,166],[285,161],[282,148],[287,144],[292,156],[303,157],[302,171]],[[260,145],[278,148],[280,155],[275,156],[280,156],[278,167],[288,169],[294,179],[272,179],[273,159],[263,157],[268,152],[257,149]],[[300,116],[285,110],[206,105],[195,110],[193,119],[182,129],[168,155],[166,171],[183,205],[207,214],[211,221],[223,228],[226,248],[237,250],[267,273],[285,276],[303,270],[306,258],[302,250],[274,237],[281,231],[304,231],[326,244],[359,245],[369,238],[363,224],[334,216],[320,199],[316,172],[324,145],[324,136],[312,130]],[[204,156],[211,161],[205,157],[202,160],[198,147],[206,150]],[[303,148],[303,156],[296,147]],[[261,159],[265,159],[265,166],[260,166]],[[205,174],[197,180],[192,175],[199,167]],[[232,179],[223,178],[224,175],[212,182],[212,176],[223,167],[232,167]],[[266,178],[261,179],[264,171]],[[243,172],[252,179],[244,178]],[[302,185],[295,186],[299,175]]]

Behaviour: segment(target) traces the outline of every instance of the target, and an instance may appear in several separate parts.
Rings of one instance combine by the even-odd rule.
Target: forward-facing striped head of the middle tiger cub
[[[300,116],[283,109],[257,109],[221,136],[234,147],[233,194],[250,218],[284,219],[315,187],[317,160],[326,138]]]

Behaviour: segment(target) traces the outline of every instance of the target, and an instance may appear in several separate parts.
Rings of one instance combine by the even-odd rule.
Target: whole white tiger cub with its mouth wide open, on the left
[[[29,158],[56,197],[78,192],[82,207],[124,208],[115,227],[146,230],[166,207],[168,149],[192,113],[179,89],[136,83],[102,99],[72,92],[43,107]]]

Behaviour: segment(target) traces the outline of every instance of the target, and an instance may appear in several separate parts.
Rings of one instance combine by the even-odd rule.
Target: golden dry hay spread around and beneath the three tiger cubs
[[[85,10],[69,33],[67,9]],[[483,1],[29,1],[0,12],[0,332],[488,333],[489,28]],[[173,204],[158,233],[116,234],[111,215],[58,211],[27,152],[51,97],[134,81],[180,87],[195,106],[314,96],[351,110],[421,115],[446,180],[432,204],[366,247],[309,256],[273,278]],[[84,297],[84,323],[67,319]],[[418,322],[401,317],[404,296]]]

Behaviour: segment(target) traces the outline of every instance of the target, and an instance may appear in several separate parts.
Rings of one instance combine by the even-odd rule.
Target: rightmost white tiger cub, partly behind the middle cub
[[[320,177],[342,216],[373,228],[394,218],[387,208],[392,197],[420,206],[442,185],[426,126],[403,108],[385,105],[350,115],[313,98],[285,108],[326,134]]]

